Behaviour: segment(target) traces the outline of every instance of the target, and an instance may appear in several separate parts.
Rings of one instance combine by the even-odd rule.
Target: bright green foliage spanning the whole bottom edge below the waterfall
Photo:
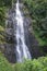
[[[0,52],[0,71],[47,71],[47,57],[11,64]]]

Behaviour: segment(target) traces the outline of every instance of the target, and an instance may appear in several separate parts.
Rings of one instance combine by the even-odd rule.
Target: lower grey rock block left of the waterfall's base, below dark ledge
[[[15,48],[13,44],[0,45],[0,51],[3,52],[4,57],[8,59],[9,62],[16,62]]]

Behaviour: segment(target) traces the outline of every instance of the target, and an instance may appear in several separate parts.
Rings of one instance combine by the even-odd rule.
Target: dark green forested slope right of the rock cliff
[[[33,20],[34,35],[47,46],[47,0],[23,0]]]

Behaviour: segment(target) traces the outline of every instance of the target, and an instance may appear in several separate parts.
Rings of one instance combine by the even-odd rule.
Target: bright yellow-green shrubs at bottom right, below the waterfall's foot
[[[16,63],[14,69],[15,71],[47,71],[47,57]]]

